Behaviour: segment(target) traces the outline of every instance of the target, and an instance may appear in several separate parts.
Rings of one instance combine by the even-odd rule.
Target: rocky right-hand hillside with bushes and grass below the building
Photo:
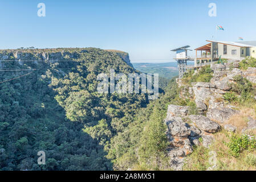
[[[213,63],[170,81],[125,129],[129,135],[114,137],[114,167],[255,170],[255,63]]]

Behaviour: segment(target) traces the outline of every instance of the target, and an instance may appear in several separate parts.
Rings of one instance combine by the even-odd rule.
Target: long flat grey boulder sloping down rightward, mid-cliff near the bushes
[[[220,130],[218,123],[206,118],[204,115],[189,115],[188,117],[200,130],[207,133],[215,133]]]

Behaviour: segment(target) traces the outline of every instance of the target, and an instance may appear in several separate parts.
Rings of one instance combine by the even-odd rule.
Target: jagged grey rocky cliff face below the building
[[[224,94],[229,92],[234,76],[242,76],[256,83],[256,68],[247,71],[238,69],[238,61],[232,64],[212,64],[213,78],[210,82],[194,82],[188,85],[177,78],[181,97],[193,100],[200,114],[189,115],[188,106],[169,105],[165,123],[169,139],[170,164],[174,170],[181,170],[185,156],[193,151],[193,145],[209,147],[214,141],[214,133],[221,129],[235,132],[236,127],[226,123],[230,117],[239,114],[235,106],[224,102]],[[256,121],[250,119],[248,129],[256,129]],[[201,139],[200,139],[201,138]],[[201,142],[200,142],[200,140]]]

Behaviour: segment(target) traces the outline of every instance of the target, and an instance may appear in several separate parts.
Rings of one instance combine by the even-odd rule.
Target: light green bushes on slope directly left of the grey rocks
[[[123,133],[111,139],[108,158],[115,169],[159,169],[168,167],[165,118],[169,104],[177,104],[177,84],[171,80],[165,94],[136,114]]]

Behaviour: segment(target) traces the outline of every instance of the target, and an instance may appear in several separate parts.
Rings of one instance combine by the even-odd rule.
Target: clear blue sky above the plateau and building
[[[46,17],[37,16],[41,2]],[[209,3],[216,3],[216,17],[208,15]],[[0,0],[0,49],[97,47],[164,62],[172,60],[170,49],[205,44],[217,25],[225,29],[218,40],[256,40],[255,8],[255,0]]]

